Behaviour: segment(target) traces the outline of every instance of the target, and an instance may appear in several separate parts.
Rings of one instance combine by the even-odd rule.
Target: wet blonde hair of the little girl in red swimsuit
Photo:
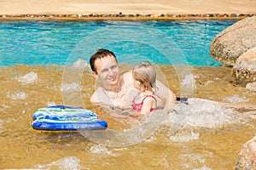
[[[155,88],[156,81],[156,73],[153,65],[148,61],[143,61],[134,67],[132,74],[136,81],[141,82],[145,90],[153,92],[152,88]]]

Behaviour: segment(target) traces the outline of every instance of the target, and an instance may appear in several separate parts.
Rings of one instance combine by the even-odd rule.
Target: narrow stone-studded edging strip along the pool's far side
[[[241,20],[256,14],[0,14],[0,20]]]

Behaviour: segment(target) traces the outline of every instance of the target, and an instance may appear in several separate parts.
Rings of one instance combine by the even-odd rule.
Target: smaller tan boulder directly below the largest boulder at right
[[[249,49],[236,59],[232,74],[236,80],[254,82],[256,80],[256,47]]]

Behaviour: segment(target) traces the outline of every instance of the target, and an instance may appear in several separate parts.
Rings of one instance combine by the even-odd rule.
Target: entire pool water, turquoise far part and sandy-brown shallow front
[[[220,65],[209,56],[213,37],[234,22],[0,23],[0,167],[110,170],[234,168],[242,144],[256,133],[255,108],[232,110],[196,100],[237,104],[238,108],[244,104],[256,105],[256,94],[234,85],[231,68]],[[194,101],[195,105],[190,104],[191,111],[183,120],[182,127],[176,133],[172,132],[175,116],[183,116],[183,111],[190,106],[186,103],[178,103],[177,113],[164,117],[166,122],[147,139],[137,136],[148,134],[150,128],[147,127],[129,133],[130,138],[126,133],[115,136],[128,142],[134,139],[137,144],[133,145],[111,147],[111,144],[97,143],[77,132],[32,129],[34,111],[47,105],[62,105],[62,91],[77,92],[79,89],[84,108],[95,111],[106,120],[109,129],[130,132],[130,124],[125,124],[127,117],[114,115],[113,110],[104,110],[90,103],[90,95],[96,88],[90,70],[85,69],[79,80],[75,80],[77,83],[73,83],[73,74],[67,82],[63,81],[66,68],[63,65],[72,65],[78,59],[87,61],[96,48],[113,50],[119,62],[124,63],[120,68],[127,68],[130,64],[126,63],[142,59],[160,63],[160,75],[177,96],[181,94],[181,84],[191,89],[187,81],[192,81],[193,98],[189,102]],[[178,79],[178,71],[172,66],[175,62],[194,67],[189,67],[189,74],[186,74],[181,66],[178,71],[184,74],[184,79]],[[77,101],[71,95],[67,97]],[[149,125],[155,126],[158,121],[154,119]]]

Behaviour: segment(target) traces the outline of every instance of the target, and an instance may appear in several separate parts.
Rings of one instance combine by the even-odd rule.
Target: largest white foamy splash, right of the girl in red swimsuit
[[[169,123],[172,130],[178,130],[181,127],[217,128],[241,121],[232,108],[221,106],[211,100],[191,98],[186,103],[174,105],[175,113],[169,115],[165,124]]]

